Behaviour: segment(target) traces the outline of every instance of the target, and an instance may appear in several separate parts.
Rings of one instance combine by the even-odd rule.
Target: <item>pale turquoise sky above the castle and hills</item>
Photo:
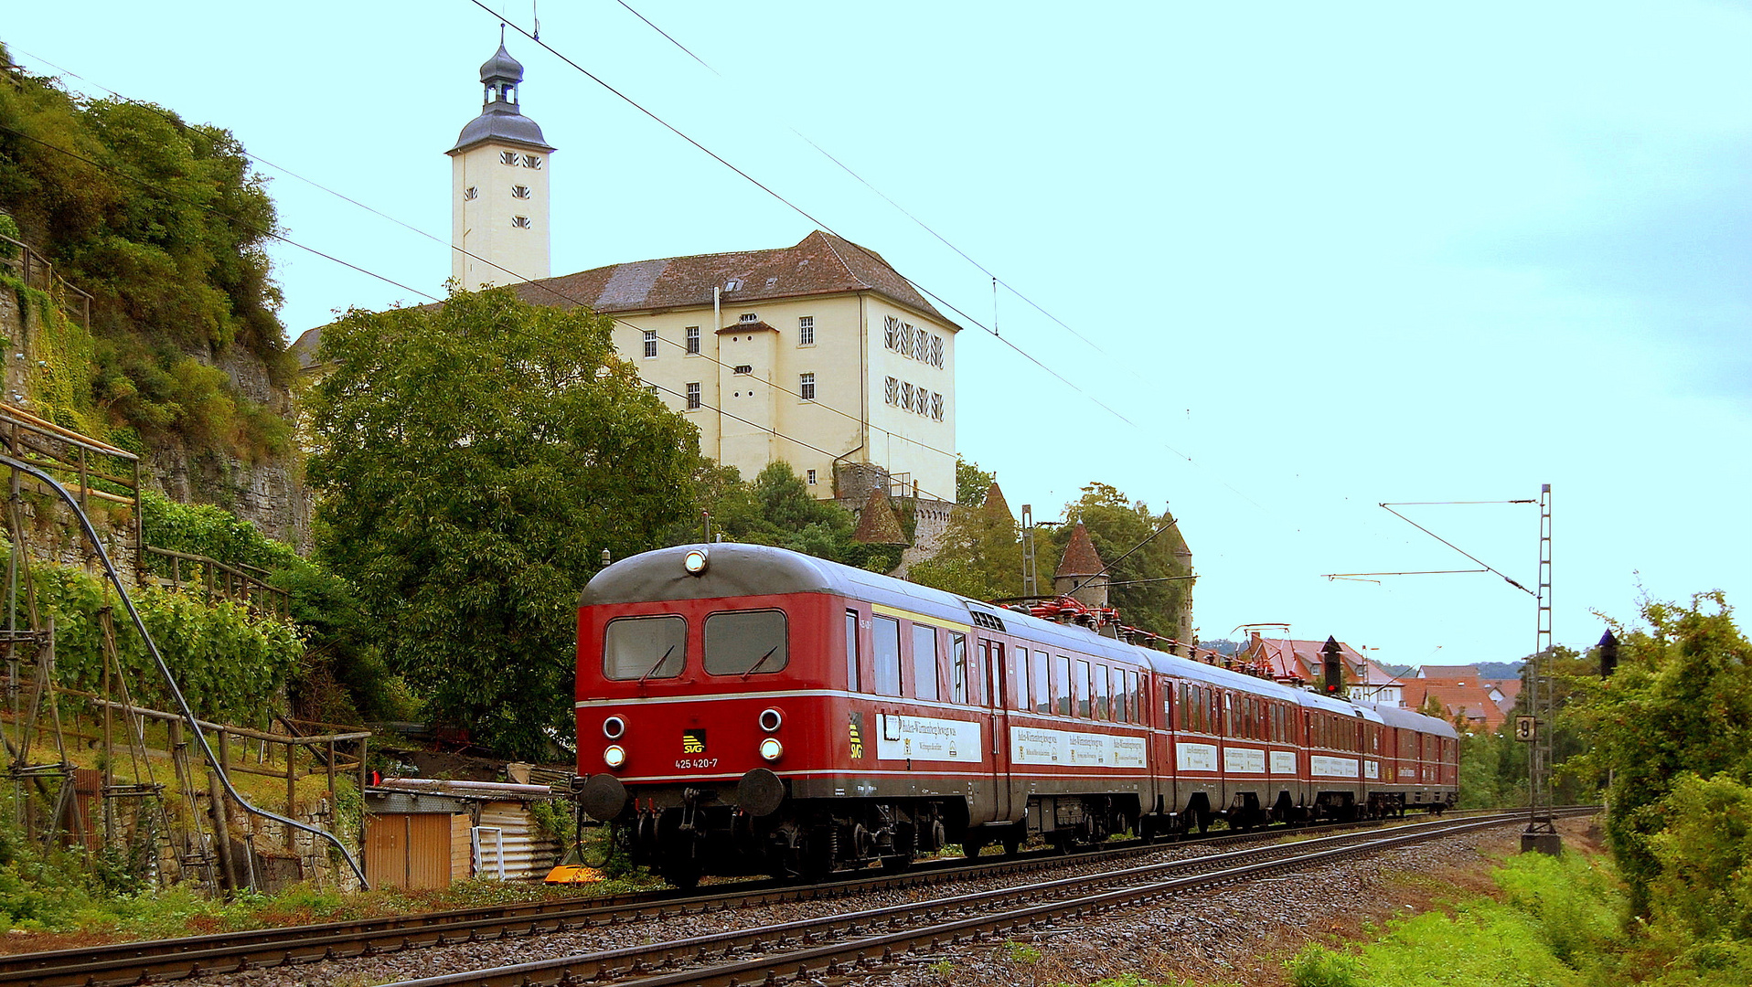
[[[1545,483],[1558,642],[1752,597],[1747,4],[61,0],[0,40],[265,161],[296,338],[442,294],[501,18],[555,275],[881,252],[964,313],[958,452],[1039,520],[1170,508],[1204,639],[1521,658],[1494,574],[1328,576],[1477,569],[1377,506],[1466,500],[1398,509],[1531,588]]]

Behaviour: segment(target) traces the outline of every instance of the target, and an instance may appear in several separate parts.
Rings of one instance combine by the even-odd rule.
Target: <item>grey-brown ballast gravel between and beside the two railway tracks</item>
[[[1566,831],[1566,840],[1573,838]],[[1116,910],[1062,922],[1009,940],[971,943],[913,956],[892,971],[860,978],[864,984],[985,985],[985,984],[1091,984],[1102,976],[1198,976],[1223,984],[1284,984],[1277,952],[1293,954],[1303,942],[1354,929],[1384,912],[1368,901],[1403,889],[1396,875],[1435,875],[1452,886],[1452,875],[1475,873],[1519,849],[1514,824],[1466,836],[1451,836],[1367,861],[1332,864],[1298,875],[1256,880],[1218,891],[1191,892],[1172,903]],[[373,957],[336,959],[298,968],[251,970],[205,976],[186,984],[214,987],[370,987],[489,966],[531,962],[643,945],[687,936],[794,922],[864,908],[950,898],[993,887],[1056,880],[1072,875],[1123,870],[1142,863],[1207,856],[1193,845],[1165,845],[1148,858],[1109,858],[1065,863],[1034,875],[944,880],[899,891],[871,891],[827,901],[794,901],[713,912],[710,915],[634,919],[575,933],[554,933],[505,942],[415,948]],[[1221,852],[1221,850],[1216,850]],[[1487,884],[1487,880],[1486,880]],[[1403,892],[1400,894],[1403,896]],[[1391,910],[1391,908],[1389,908]]]

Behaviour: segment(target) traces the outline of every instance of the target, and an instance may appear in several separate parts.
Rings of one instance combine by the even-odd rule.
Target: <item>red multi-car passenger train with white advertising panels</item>
[[[1451,724],[752,544],[601,570],[578,606],[583,807],[639,863],[820,878],[1451,805]]]

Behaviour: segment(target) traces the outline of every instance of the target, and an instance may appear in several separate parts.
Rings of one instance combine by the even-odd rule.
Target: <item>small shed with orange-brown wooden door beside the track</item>
[[[562,847],[531,807],[562,798],[538,784],[384,779],[364,791],[364,877],[408,889],[541,880]]]

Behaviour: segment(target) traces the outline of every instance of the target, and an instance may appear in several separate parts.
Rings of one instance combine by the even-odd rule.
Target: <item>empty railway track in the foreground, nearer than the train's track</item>
[[[1065,915],[1086,915],[1170,892],[1249,880],[1267,873],[1289,873],[1335,859],[1514,824],[1519,819],[1521,812],[1512,812],[1482,819],[1402,826],[1388,836],[1353,833],[1274,844],[1211,858],[1165,861],[1123,872],[960,894],[936,901],[403,980],[396,982],[396,987],[543,987],[547,984],[583,982],[618,982],[622,987],[773,984],[780,976],[780,968],[787,971],[787,980],[792,978],[794,971],[795,982],[801,984],[816,973],[827,976],[844,973],[841,961],[850,961],[855,968],[883,966],[894,961],[897,950],[911,952],[922,945],[941,948],[944,942],[958,945],[964,936],[979,938],[993,929],[1041,928]],[[1153,877],[1176,872],[1193,873],[1153,880]],[[1116,880],[1142,884],[1113,889]],[[1004,906],[1004,910],[992,912],[993,906]],[[883,926],[890,931],[878,931]],[[823,943],[823,940],[830,942]],[[881,959],[871,961],[876,952],[881,954]],[[746,959],[738,959],[738,954]]]

